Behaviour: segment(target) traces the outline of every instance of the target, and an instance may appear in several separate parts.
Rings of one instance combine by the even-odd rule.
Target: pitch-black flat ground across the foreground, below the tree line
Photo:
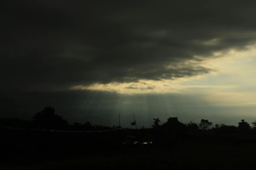
[[[44,137],[43,134],[31,136],[31,133],[27,133],[26,137],[24,132],[15,132],[15,134],[16,137],[12,136],[11,139],[9,137],[8,143],[5,142],[7,139],[1,138],[3,151],[1,153],[4,157],[0,165],[1,170],[255,169],[256,143],[254,141],[209,142],[200,138],[200,140],[183,141],[178,145],[166,147],[154,145],[135,147],[108,142],[104,142],[102,145],[100,143],[92,144],[88,143],[88,140],[87,142],[77,141],[85,139],[76,136],[73,136],[72,140],[71,136],[66,136],[66,142],[63,142],[64,139],[56,134],[53,134],[55,138],[49,138],[45,134]],[[20,140],[17,138],[18,134],[20,134]],[[38,136],[43,138],[38,140]],[[77,145],[75,145],[76,142]],[[56,147],[52,147],[54,145],[51,143]],[[83,143],[85,144],[83,145]],[[10,152],[8,153],[8,151]]]

